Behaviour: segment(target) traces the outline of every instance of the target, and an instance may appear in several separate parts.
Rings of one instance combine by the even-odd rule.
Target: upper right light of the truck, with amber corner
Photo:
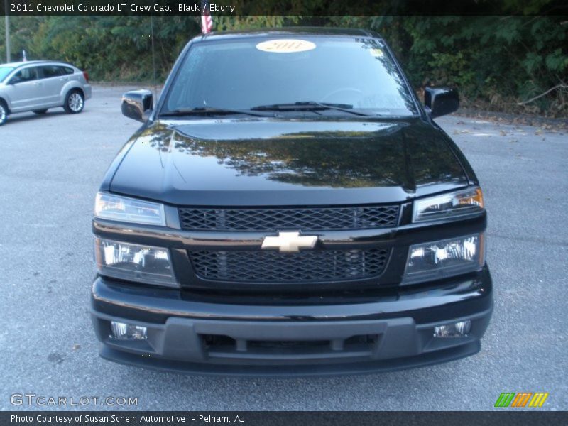
[[[482,212],[484,195],[481,188],[450,192],[414,202],[413,222],[460,217],[464,214]]]

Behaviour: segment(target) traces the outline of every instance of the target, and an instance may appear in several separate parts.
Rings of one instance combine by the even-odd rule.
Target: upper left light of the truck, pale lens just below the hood
[[[165,226],[163,204],[97,192],[94,216],[135,224]]]

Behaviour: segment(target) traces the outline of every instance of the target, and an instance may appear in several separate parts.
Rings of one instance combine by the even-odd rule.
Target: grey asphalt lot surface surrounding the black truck
[[[484,187],[495,285],[479,354],[306,379],[182,376],[100,359],[90,220],[107,166],[138,126],[120,114],[125,90],[95,87],[82,114],[20,114],[0,128],[0,409],[55,408],[10,402],[34,393],[131,396],[131,409],[151,410],[491,410],[501,392],[523,391],[550,393],[543,409],[568,409],[568,137],[459,116],[439,124]]]

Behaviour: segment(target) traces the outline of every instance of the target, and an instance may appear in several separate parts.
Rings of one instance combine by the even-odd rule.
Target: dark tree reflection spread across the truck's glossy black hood
[[[425,138],[420,129],[405,124],[377,132],[322,131],[270,139],[202,140],[158,121],[139,138],[160,155],[171,148],[177,153],[217,158],[217,163],[238,175],[264,175],[268,180],[305,186],[412,187],[405,143],[416,185],[464,176],[443,141]],[[172,141],[174,146],[170,147]]]

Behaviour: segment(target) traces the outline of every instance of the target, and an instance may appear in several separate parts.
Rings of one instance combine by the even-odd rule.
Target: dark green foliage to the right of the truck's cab
[[[506,3],[522,9],[516,0]],[[371,28],[393,45],[416,87],[449,84],[484,108],[567,115],[566,16],[398,16]]]

